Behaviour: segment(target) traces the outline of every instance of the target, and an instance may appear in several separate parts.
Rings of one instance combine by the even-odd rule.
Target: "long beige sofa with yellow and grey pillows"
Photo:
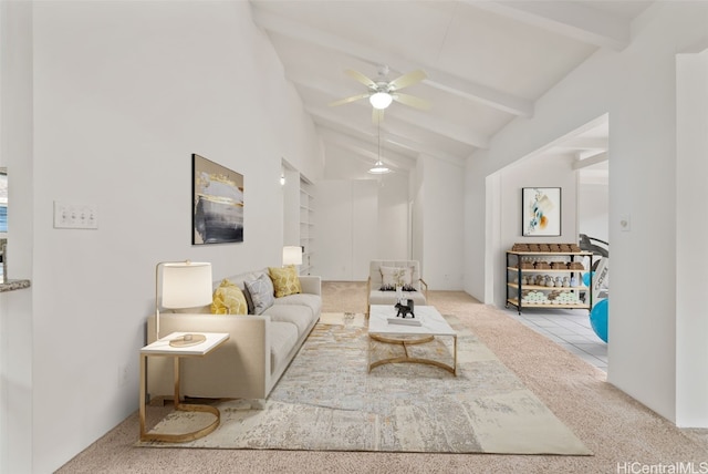
[[[227,277],[244,288],[268,269]],[[214,282],[216,288],[220,284]],[[205,358],[184,358],[180,393],[196,398],[264,399],[283,374],[322,310],[321,279],[301,276],[302,292],[275,298],[262,315],[210,315],[209,307],[190,312],[160,313],[160,336],[174,331],[228,332],[230,339]],[[155,340],[155,316],[147,320],[147,342]],[[171,398],[171,358],[148,359],[150,399]]]

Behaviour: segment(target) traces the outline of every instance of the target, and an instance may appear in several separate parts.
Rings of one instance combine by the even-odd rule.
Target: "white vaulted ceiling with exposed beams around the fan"
[[[509,122],[532,117],[539,97],[595,51],[626,48],[632,20],[650,3],[251,0],[254,22],[312,116],[327,166],[342,161],[352,177],[367,176],[379,143],[394,171],[410,169],[421,155],[464,164]],[[345,70],[377,82],[386,69],[386,80],[425,71],[403,92],[431,106],[394,102],[379,142],[366,97],[330,104],[368,91]],[[555,152],[586,157],[606,150],[606,126],[585,133]]]

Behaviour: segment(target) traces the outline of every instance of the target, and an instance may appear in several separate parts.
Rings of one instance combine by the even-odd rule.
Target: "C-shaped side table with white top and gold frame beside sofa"
[[[205,357],[229,339],[227,332],[200,332],[206,337],[201,343],[189,347],[173,347],[169,341],[185,336],[186,332],[173,332],[152,344],[140,349],[140,441],[166,441],[170,443],[184,443],[206,436],[217,429],[221,420],[219,410],[202,404],[180,403],[179,401],[179,360],[185,357]],[[154,433],[145,430],[145,398],[147,393],[146,370],[147,358],[149,357],[171,357],[175,360],[175,410],[190,412],[206,412],[216,416],[215,421],[206,427],[190,433]]]

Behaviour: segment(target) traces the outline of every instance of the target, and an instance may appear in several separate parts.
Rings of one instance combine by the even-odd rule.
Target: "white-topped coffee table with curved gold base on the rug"
[[[420,320],[420,326],[408,326],[388,322],[388,318],[396,318],[396,312],[397,310],[393,305],[372,305],[371,307],[368,317],[368,371],[371,372],[372,369],[385,363],[408,362],[439,367],[457,375],[457,332],[442,318],[442,315],[433,306],[416,306],[415,319]],[[408,346],[430,342],[436,336],[452,338],[451,365],[437,360],[410,357],[408,354]],[[405,354],[372,362],[372,340],[403,346]]]

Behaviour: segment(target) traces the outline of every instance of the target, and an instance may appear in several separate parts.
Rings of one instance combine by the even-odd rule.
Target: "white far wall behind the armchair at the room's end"
[[[336,163],[327,164],[327,175],[341,169]],[[421,156],[409,175],[317,182],[316,219],[323,223],[315,229],[317,274],[325,280],[365,280],[369,260],[413,256],[430,289],[461,290],[461,172],[454,164]],[[352,213],[357,208],[367,210],[356,217]]]

